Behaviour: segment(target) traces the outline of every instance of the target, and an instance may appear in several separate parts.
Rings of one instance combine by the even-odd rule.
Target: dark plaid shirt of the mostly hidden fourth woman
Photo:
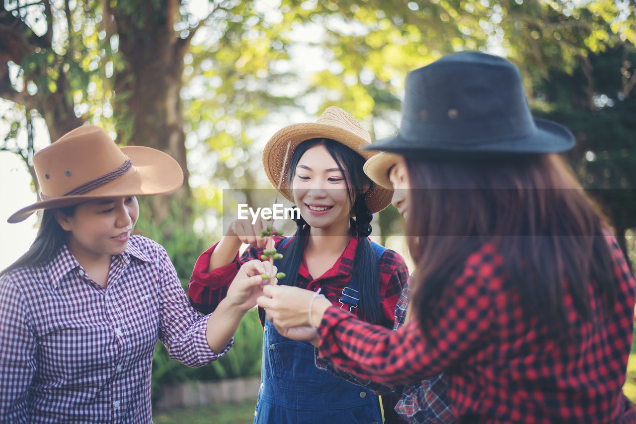
[[[408,308],[408,294],[413,275],[408,278],[396,304],[394,330],[404,325],[406,308]],[[444,375],[439,374],[433,378],[422,380],[417,386],[384,386],[380,383],[364,380],[355,374],[347,373],[333,366],[333,362],[323,359],[315,352],[315,364],[318,368],[329,371],[340,378],[351,381],[354,384],[368,388],[378,395],[394,395],[399,398],[396,412],[410,424],[450,424],[456,421],[453,411],[450,409],[446,390],[448,383]]]

